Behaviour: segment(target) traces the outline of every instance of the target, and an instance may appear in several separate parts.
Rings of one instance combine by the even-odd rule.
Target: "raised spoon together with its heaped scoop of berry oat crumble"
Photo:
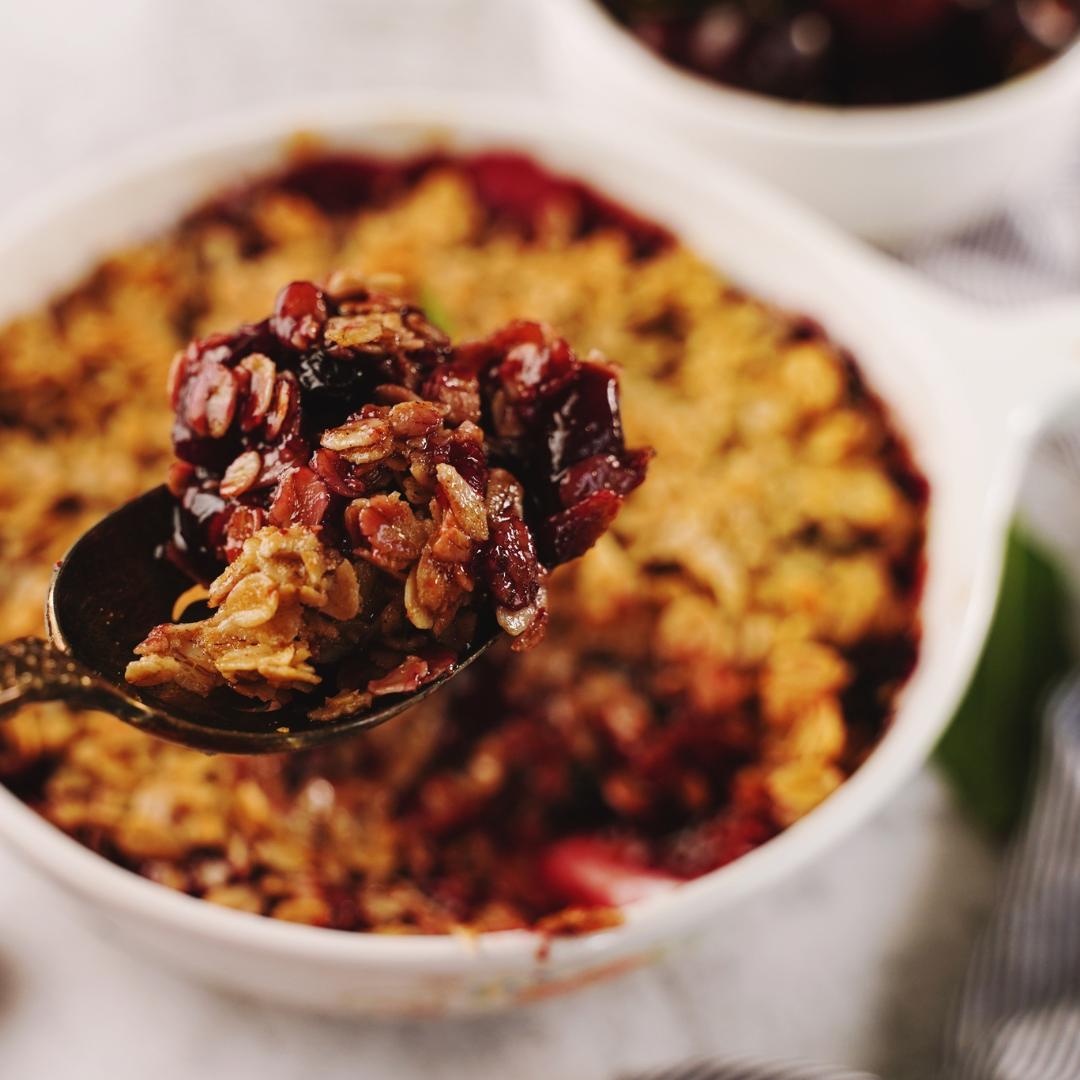
[[[206,751],[384,723],[501,636],[645,478],[618,374],[515,322],[454,346],[376,282],[293,282],[191,342],[167,485],[59,565],[51,642],[0,647],[0,714],[63,698]]]

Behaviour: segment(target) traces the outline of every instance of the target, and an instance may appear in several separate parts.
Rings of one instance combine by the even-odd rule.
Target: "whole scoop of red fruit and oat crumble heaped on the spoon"
[[[599,539],[651,457],[627,451],[602,357],[529,322],[453,348],[347,273],[193,341],[168,390],[170,554],[215,576],[214,613],[156,626],[127,679],[280,705],[336,664],[315,719],[448,673],[492,607],[513,649],[535,646],[549,569]]]

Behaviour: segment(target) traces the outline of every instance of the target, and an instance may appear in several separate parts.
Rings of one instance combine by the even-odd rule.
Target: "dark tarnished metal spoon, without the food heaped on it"
[[[173,686],[132,686],[124,669],[135,646],[151,626],[172,620],[176,598],[191,584],[159,554],[172,535],[174,505],[162,485],[80,537],[53,575],[45,602],[50,639],[0,645],[0,716],[27,702],[63,701],[208,753],[306,750],[384,724],[438,690],[499,636],[492,619],[453,671],[414,693],[377,698],[377,707],[328,721],[308,718],[316,703],[310,696],[271,712],[231,690],[202,698]]]

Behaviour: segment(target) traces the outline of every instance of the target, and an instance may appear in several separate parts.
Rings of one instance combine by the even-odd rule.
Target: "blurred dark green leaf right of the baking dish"
[[[935,752],[967,808],[998,835],[1024,809],[1039,717],[1069,666],[1066,610],[1061,572],[1014,526],[982,658]]]

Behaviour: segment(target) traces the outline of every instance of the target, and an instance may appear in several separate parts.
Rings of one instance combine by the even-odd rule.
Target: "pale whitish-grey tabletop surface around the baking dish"
[[[5,12],[4,205],[160,132],[298,94],[386,85],[531,94],[516,0],[54,2]],[[287,1080],[607,1078],[694,1054],[929,1075],[997,873],[941,780],[708,941],[512,1015],[373,1024],[287,1015],[152,970],[0,851],[0,1076]]]

